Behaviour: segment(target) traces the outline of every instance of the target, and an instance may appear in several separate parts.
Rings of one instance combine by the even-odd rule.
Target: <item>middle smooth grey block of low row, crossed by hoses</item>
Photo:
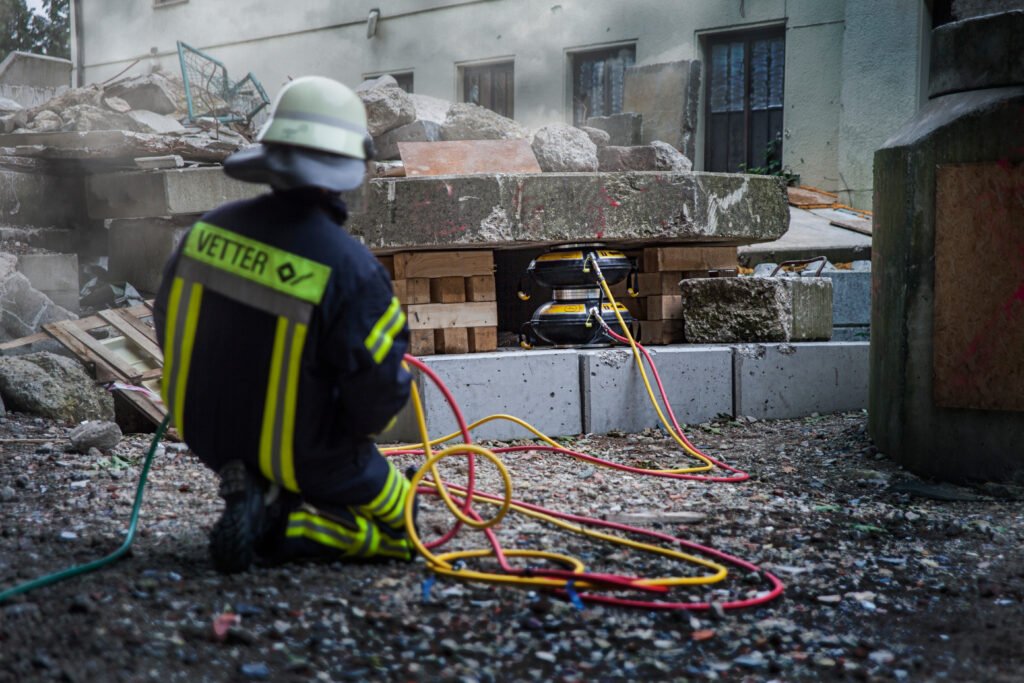
[[[680,424],[732,413],[731,347],[671,346],[648,350]],[[660,401],[650,368],[645,366],[645,370]],[[632,350],[580,351],[580,377],[585,432],[636,432],[659,423]],[[664,407],[662,411],[670,419]]]

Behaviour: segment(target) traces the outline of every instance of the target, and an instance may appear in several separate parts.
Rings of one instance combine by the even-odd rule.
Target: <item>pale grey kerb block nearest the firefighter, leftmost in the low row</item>
[[[515,416],[549,436],[579,434],[580,365],[574,350],[535,350],[434,355],[423,360],[455,396],[467,423],[495,414]],[[417,386],[431,438],[458,429],[451,408],[437,387],[422,375]],[[476,439],[532,438],[519,425],[496,420],[472,431]],[[415,442],[420,438],[410,403],[381,442]]]

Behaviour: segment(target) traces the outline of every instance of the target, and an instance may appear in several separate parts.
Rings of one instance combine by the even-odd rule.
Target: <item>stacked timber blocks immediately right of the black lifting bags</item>
[[[626,283],[611,292],[640,323],[642,344],[685,341],[680,281],[738,274],[735,247],[649,247],[628,255],[637,259],[640,270],[638,296],[629,296]]]

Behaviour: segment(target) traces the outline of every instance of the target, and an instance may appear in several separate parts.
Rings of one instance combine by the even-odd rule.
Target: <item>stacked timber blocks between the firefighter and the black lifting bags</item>
[[[498,348],[492,251],[402,252],[377,257],[391,274],[411,334],[410,353],[479,353]]]

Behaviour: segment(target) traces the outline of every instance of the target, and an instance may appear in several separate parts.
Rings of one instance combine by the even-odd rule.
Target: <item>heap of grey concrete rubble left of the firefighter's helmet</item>
[[[46,135],[40,135],[40,134]],[[26,109],[0,101],[2,156],[134,159],[176,155],[216,163],[250,144],[250,124],[190,120],[184,83],[154,72],[65,90]]]

